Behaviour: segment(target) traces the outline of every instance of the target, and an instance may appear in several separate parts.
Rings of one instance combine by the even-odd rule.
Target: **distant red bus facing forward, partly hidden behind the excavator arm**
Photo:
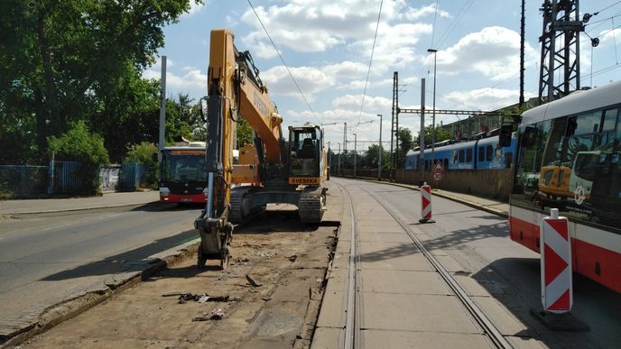
[[[205,203],[206,187],[205,142],[162,149],[160,201]]]

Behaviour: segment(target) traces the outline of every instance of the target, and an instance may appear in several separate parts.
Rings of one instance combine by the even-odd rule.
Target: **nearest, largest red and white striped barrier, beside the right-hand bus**
[[[545,311],[562,314],[571,310],[571,244],[569,223],[552,208],[542,219],[542,305]]]

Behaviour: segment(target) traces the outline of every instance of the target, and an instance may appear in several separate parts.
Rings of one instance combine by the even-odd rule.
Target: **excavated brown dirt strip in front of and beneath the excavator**
[[[296,214],[268,212],[239,229],[225,271],[217,261],[199,270],[192,255],[19,347],[308,347],[338,227],[301,225]],[[228,301],[180,303],[181,293]]]

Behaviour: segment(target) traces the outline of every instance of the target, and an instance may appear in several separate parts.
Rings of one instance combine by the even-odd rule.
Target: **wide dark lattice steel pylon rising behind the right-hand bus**
[[[544,0],[542,60],[539,72],[539,99],[548,102],[580,88],[579,0]],[[554,76],[557,75],[557,82]]]

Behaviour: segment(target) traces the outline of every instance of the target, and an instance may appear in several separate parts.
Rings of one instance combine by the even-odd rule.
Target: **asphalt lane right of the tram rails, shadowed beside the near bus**
[[[519,318],[524,330],[516,335],[536,338],[552,348],[618,347],[621,343],[621,295],[579,275],[574,275],[572,314],[589,325],[590,332],[554,332],[530,314],[531,309],[542,308],[539,255],[509,239],[505,218],[433,197],[435,223],[419,225],[419,192],[371,183],[357,186],[381,197],[414,230],[428,236],[425,247],[449,255],[457,262],[449,268],[477,280]]]

